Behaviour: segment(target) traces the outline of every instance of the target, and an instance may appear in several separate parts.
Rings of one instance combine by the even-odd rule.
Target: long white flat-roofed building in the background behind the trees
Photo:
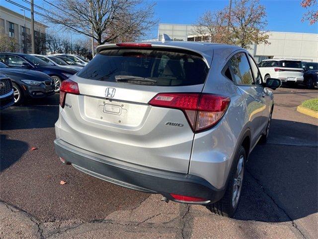
[[[174,41],[209,41],[208,36],[195,35],[193,25],[159,24],[159,37],[167,34]],[[318,62],[318,34],[268,32],[270,44],[252,45],[250,53],[259,62],[269,58],[286,58]]]

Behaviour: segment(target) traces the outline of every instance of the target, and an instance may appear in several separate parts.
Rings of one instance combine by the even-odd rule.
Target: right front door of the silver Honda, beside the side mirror
[[[253,57],[248,55],[248,60],[252,70],[255,86],[258,86],[257,90],[260,92],[261,97],[259,98],[259,100],[265,106],[265,109],[262,111],[263,116],[260,118],[260,128],[265,129],[265,127],[267,126],[268,117],[271,112],[272,94],[268,88],[262,85],[263,79]]]

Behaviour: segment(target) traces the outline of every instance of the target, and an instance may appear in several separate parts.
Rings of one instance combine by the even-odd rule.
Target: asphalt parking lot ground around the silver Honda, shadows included
[[[235,219],[63,165],[58,95],[2,111],[0,238],[318,238],[318,120],[296,111],[318,91],[274,93],[269,142],[250,155]]]

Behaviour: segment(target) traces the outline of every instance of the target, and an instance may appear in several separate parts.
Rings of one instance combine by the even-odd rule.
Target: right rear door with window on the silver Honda
[[[266,106],[262,99],[263,87],[255,84],[252,71],[245,52],[239,52],[231,57],[230,69],[233,79],[246,103],[247,121],[251,130],[251,144],[258,140],[261,130],[261,121]]]

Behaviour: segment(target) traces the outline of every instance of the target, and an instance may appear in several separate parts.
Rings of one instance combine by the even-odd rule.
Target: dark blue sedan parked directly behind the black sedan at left
[[[43,72],[54,80],[55,92],[60,91],[62,81],[77,73],[76,70],[58,66],[50,66],[35,56],[22,53],[0,53],[0,61],[6,65],[19,69],[31,69]]]

